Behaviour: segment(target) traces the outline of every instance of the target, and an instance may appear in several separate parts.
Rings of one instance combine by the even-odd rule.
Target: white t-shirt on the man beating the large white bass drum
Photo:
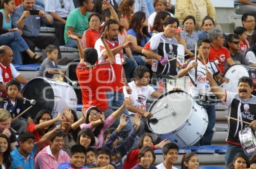
[[[146,111],[146,101],[149,96],[155,91],[153,87],[151,86],[142,86],[142,87],[137,87],[135,84],[135,81],[132,81],[128,83],[130,88],[133,90],[132,94],[127,94],[125,87],[123,87],[123,94],[124,97],[132,97],[133,98],[133,106],[142,109]],[[129,114],[134,114],[133,112],[129,111]]]

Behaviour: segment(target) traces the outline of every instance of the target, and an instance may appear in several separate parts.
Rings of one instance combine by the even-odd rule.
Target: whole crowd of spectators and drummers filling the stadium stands
[[[147,124],[153,117],[147,100],[166,91],[170,76],[188,76],[190,96],[207,112],[208,126],[196,145],[211,145],[216,116],[215,105],[198,102],[201,89],[222,99],[230,117],[256,128],[253,80],[239,79],[237,93],[218,87],[232,80],[223,75],[233,64],[256,67],[254,0],[235,0],[242,26],[228,35],[210,0],[176,0],[175,10],[170,0],[0,2],[1,168],[176,169],[179,147]],[[40,35],[42,26],[55,28],[55,36]],[[67,64],[63,45],[79,51],[81,117],[68,107],[56,117],[47,110],[22,114],[20,84],[28,80],[13,64],[41,63],[38,77],[68,76],[58,68]],[[45,49],[46,57],[37,55],[36,47]],[[226,168],[256,167],[255,155],[249,160],[239,141],[237,131],[244,128],[229,121]],[[156,149],[163,156],[158,165]],[[199,168],[199,160],[187,153],[181,168]]]

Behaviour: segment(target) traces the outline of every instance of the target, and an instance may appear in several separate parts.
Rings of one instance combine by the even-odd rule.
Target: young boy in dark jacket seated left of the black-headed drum
[[[4,108],[11,114],[11,128],[16,130],[18,133],[27,131],[27,120],[33,122],[29,113],[21,115],[17,120],[17,117],[24,110],[23,101],[18,97],[20,93],[20,83],[16,80],[11,80],[6,84],[7,97],[0,102],[0,108]]]

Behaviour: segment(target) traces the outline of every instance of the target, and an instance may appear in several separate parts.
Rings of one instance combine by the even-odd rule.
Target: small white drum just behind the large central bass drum
[[[171,91],[174,87],[180,87],[181,90],[186,91],[189,93],[190,85],[189,85],[190,79],[189,76],[184,76],[182,78],[176,78],[174,76],[174,79],[169,79],[166,84],[166,90]]]

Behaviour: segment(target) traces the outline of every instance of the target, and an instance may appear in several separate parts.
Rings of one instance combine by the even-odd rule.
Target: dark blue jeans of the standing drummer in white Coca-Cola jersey
[[[197,102],[198,105],[202,106],[206,112],[207,112],[207,115],[208,115],[208,126],[207,126],[207,129],[204,133],[204,136],[203,138],[200,139],[200,145],[203,146],[203,145],[211,145],[211,139],[213,137],[213,128],[214,128],[214,125],[215,125],[215,117],[216,117],[216,114],[215,114],[215,105],[202,105],[200,103]]]

